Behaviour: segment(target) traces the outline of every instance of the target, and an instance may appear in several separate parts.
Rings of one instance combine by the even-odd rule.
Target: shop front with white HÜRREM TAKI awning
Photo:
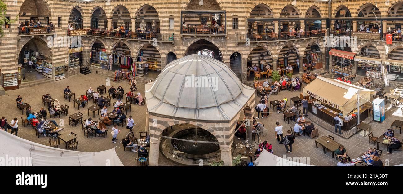
[[[382,79],[382,60],[377,58],[369,58],[355,56],[354,61],[357,62],[357,74],[375,79]]]

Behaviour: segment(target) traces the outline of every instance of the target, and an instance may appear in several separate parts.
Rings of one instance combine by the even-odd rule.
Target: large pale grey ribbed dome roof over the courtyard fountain
[[[146,84],[149,112],[195,120],[231,120],[253,97],[224,63],[201,55],[172,61]]]

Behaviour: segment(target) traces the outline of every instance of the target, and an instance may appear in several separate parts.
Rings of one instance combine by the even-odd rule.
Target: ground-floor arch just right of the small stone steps
[[[92,43],[89,55],[91,65],[98,66],[102,69],[109,68],[109,57],[106,54],[106,47],[102,41],[97,39]]]

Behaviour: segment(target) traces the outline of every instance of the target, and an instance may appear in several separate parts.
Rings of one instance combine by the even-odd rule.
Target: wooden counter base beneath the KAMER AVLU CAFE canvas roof
[[[313,99],[312,101],[315,101],[316,99]],[[323,105],[323,104],[322,104]],[[328,124],[331,124],[334,126],[334,117],[336,117],[336,114],[341,112],[339,109],[336,109],[334,107],[331,107],[330,105],[324,105],[327,109],[325,108],[317,108],[314,106],[314,103],[308,103],[308,109],[309,112],[318,118],[324,120]],[[369,109],[371,105],[370,104],[364,104],[363,107],[360,109],[360,114],[359,114],[359,120],[360,122],[364,121],[366,118],[369,116]],[[351,111],[351,113],[356,112],[357,109]],[[353,116],[349,120],[345,120],[343,116],[343,126],[341,129],[343,131],[348,131],[355,127],[357,125],[357,115]]]

